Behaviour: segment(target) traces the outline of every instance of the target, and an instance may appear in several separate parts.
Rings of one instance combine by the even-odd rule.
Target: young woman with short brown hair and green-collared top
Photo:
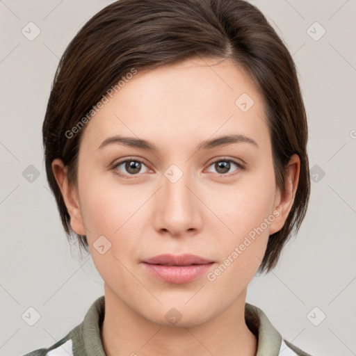
[[[309,200],[296,68],[241,0],[120,0],[60,60],[49,186],[104,296],[28,355],[308,355],[245,302]]]

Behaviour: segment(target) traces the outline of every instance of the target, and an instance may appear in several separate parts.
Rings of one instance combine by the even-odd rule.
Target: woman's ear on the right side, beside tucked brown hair
[[[300,158],[297,154],[293,154],[286,166],[286,180],[284,181],[284,191],[277,189],[275,194],[275,203],[273,211],[278,211],[275,213],[275,220],[270,224],[269,234],[275,234],[275,232],[282,229],[286,218],[288,218],[289,212],[293,206],[294,197],[296,197],[296,191],[299,181],[300,172]]]

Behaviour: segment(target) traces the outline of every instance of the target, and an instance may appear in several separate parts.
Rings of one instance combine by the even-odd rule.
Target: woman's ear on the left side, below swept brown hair
[[[67,180],[67,166],[63,164],[61,159],[54,159],[52,162],[52,170],[57,184],[62,193],[65,206],[70,214],[70,225],[72,230],[79,235],[86,235],[86,229],[83,225],[83,217],[79,205],[79,197],[74,186],[70,186]]]

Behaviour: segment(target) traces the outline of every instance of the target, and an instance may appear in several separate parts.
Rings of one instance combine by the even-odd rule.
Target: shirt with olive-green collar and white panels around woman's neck
[[[24,356],[106,356],[100,338],[104,321],[105,297],[92,303],[83,321],[67,336],[49,348],[40,348]],[[246,325],[258,340],[256,356],[311,356],[282,339],[261,309],[245,303]]]

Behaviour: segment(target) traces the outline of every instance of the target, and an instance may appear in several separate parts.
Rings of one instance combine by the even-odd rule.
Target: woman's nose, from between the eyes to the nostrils
[[[162,187],[154,200],[156,231],[175,237],[198,234],[202,230],[204,213],[200,195],[197,184],[188,179],[188,174],[177,181],[163,176]]]

